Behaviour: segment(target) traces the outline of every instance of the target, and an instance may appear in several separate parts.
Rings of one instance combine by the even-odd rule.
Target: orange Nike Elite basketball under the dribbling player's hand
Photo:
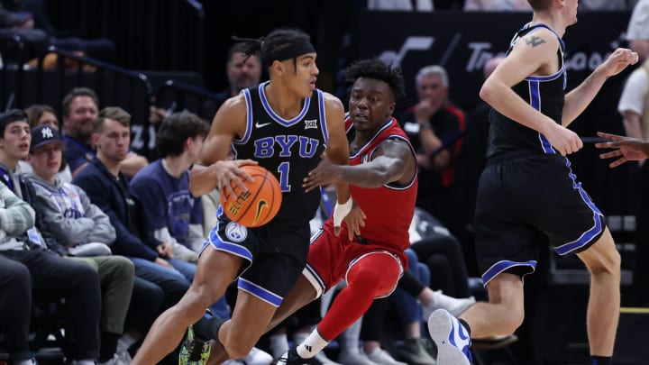
[[[242,193],[241,188],[235,184],[232,185],[235,195],[222,191],[220,200],[224,213],[234,223],[246,227],[267,224],[278,214],[281,206],[279,181],[261,166],[244,165],[241,169],[252,178],[252,181],[243,180],[248,192]]]

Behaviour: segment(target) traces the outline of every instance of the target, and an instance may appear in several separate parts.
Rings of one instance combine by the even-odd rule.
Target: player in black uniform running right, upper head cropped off
[[[528,0],[532,21],[512,39],[480,90],[492,107],[487,166],[476,206],[476,251],[489,303],[458,320],[443,310],[428,327],[439,365],[469,365],[471,338],[513,333],[523,322],[523,277],[534,272],[549,238],[560,255],[575,253],[590,270],[590,364],[609,364],[619,316],[620,256],[603,215],[583,191],[566,158],[582,147],[568,125],[604,81],[635,64],[617,49],[579,87],[565,94],[566,28],[577,22],[578,0]],[[560,310],[556,308],[555,310]]]

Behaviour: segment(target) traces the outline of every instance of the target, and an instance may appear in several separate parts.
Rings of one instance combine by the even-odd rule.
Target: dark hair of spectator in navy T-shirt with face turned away
[[[161,158],[178,156],[185,151],[187,138],[206,136],[209,123],[197,114],[182,111],[165,118],[156,133],[156,149]]]

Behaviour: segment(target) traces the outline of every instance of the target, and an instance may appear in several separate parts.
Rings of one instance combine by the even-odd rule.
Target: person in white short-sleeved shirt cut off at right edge
[[[649,2],[646,3],[649,5]],[[648,9],[649,10],[649,9]],[[647,21],[649,22],[649,12]],[[649,23],[646,24],[649,27]],[[649,39],[646,41],[649,42]],[[642,67],[637,68],[626,79],[622,96],[617,105],[617,111],[623,116],[626,136],[635,139],[649,138],[649,59],[646,59]],[[649,184],[649,164],[645,160],[639,160],[640,187],[647,187]],[[649,299],[649,266],[644,262],[649,259],[649,190],[641,188],[638,192],[637,212],[635,212],[635,269],[633,295],[636,305]],[[644,298],[644,299],[643,299]]]

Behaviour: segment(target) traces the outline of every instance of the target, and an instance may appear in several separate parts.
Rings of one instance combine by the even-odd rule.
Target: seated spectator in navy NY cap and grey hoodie
[[[27,160],[33,174],[23,175],[26,195],[48,247],[97,270],[102,288],[97,363],[121,365],[116,353],[117,340],[123,333],[131,302],[133,263],[123,256],[111,255],[109,245],[114,242],[115,232],[108,216],[90,203],[83,190],[58,178],[63,143],[59,132],[49,125],[32,129]]]

